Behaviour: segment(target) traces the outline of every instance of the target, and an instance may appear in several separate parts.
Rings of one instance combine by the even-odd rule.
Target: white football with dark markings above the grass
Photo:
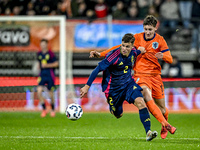
[[[83,109],[79,104],[72,103],[66,108],[66,116],[70,120],[78,120],[83,115]]]

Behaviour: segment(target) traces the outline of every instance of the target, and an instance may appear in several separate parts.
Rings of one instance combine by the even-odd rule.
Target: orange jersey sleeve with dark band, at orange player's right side
[[[164,38],[161,39],[161,52],[163,53],[163,60],[166,62],[166,63],[172,63],[173,62],[173,59],[172,59],[172,55],[170,53],[170,50],[169,50],[169,47],[167,46],[167,43],[166,41],[164,40]]]

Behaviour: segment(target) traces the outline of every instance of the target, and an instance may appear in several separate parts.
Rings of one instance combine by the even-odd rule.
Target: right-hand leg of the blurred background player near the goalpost
[[[52,78],[49,78],[47,88],[49,90],[49,96],[51,99],[51,110],[52,111],[50,113],[50,116],[55,117],[55,115],[56,115],[56,113],[55,113],[55,98],[54,98],[55,85],[54,85],[54,81],[52,80]]]

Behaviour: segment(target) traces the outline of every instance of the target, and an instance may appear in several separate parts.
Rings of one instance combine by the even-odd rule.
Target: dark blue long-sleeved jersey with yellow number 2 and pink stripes
[[[126,88],[126,86],[135,82],[131,75],[132,67],[135,63],[137,55],[141,51],[133,48],[128,57],[123,56],[120,52],[121,47],[112,50],[105,59],[99,62],[98,66],[90,75],[87,85],[91,85],[97,74],[103,72],[102,90],[109,93],[110,90],[115,92]]]

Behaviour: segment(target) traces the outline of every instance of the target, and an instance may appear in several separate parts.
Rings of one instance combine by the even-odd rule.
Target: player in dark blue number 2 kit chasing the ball
[[[123,36],[121,46],[112,50],[93,70],[87,84],[80,90],[80,97],[88,92],[98,73],[104,71],[102,90],[106,95],[110,112],[116,118],[120,118],[123,114],[124,100],[134,104],[139,109],[140,120],[146,131],[146,140],[151,141],[157,136],[157,132],[150,129],[150,115],[141,93],[142,88],[135,83],[131,75],[137,55],[145,53],[145,49],[140,47],[140,50],[136,50],[133,46],[134,41],[135,38],[131,33]]]

